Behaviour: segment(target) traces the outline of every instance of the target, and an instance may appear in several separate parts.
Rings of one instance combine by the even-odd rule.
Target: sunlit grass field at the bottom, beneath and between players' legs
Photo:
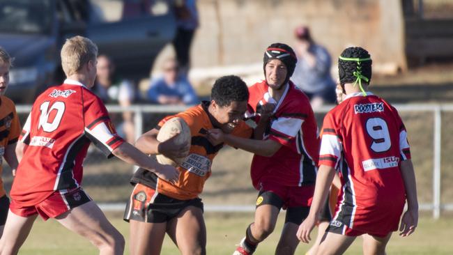
[[[123,222],[120,213],[109,214],[112,221],[126,238],[128,245],[128,223]],[[243,238],[245,227],[252,221],[251,213],[213,213],[205,214],[208,231],[208,254],[232,254],[235,245]],[[265,240],[256,254],[274,254],[279,232],[282,230],[280,217],[275,233]],[[394,234],[387,247],[387,254],[453,254],[452,240],[453,218],[444,217],[435,221],[430,217],[421,217],[417,231],[408,238]],[[316,233],[312,233],[312,238]],[[362,254],[362,240],[358,238],[346,254]],[[309,245],[301,244],[296,254],[305,254]],[[37,219],[33,229],[19,254],[52,255],[52,254],[97,254],[97,250],[88,241],[70,233],[56,221],[43,222]],[[126,247],[125,254],[128,254]],[[165,238],[162,255],[179,254],[176,246]]]

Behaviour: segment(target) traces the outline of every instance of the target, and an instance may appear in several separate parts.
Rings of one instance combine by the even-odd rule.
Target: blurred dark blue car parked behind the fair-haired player
[[[91,38],[100,54],[107,54],[123,77],[148,76],[155,56],[174,37],[176,22],[167,12],[128,19],[105,20],[105,12],[121,0],[1,0],[0,45],[15,58],[6,95],[17,103],[31,103],[47,86],[62,82],[60,49],[66,38]],[[96,4],[98,2],[98,4]],[[116,3],[116,4],[114,4]],[[107,13],[108,14],[108,13]]]

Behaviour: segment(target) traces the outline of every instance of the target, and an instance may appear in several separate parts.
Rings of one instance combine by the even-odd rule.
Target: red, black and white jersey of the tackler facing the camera
[[[259,121],[259,108],[275,102],[263,81],[249,87],[249,109],[246,116]],[[292,82],[286,86],[277,103],[263,139],[272,139],[282,147],[272,157],[254,155],[251,175],[254,187],[263,180],[287,186],[314,185],[318,163],[318,127],[307,96]]]

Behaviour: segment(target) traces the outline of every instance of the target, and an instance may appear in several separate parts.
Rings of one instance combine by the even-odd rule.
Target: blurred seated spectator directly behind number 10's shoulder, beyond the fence
[[[128,107],[136,100],[136,91],[132,82],[114,74],[114,63],[106,55],[98,56],[98,70],[93,92],[105,104],[119,104]],[[135,141],[135,126],[132,112],[123,112],[123,122],[117,126],[118,134],[128,142]]]

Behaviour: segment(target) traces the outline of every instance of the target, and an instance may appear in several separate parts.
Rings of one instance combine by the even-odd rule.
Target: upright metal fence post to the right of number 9
[[[433,217],[440,217],[440,149],[441,140],[440,133],[442,132],[442,115],[440,106],[434,109],[434,171],[433,171]]]

